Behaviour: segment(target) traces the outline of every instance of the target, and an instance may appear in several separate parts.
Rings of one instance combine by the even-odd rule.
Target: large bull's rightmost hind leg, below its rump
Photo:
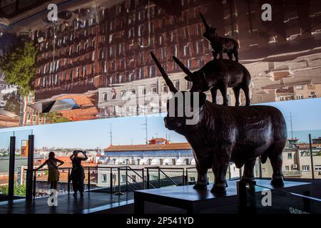
[[[282,173],[282,151],[285,147],[285,142],[274,142],[268,152],[268,157],[273,169],[271,185],[283,185]]]

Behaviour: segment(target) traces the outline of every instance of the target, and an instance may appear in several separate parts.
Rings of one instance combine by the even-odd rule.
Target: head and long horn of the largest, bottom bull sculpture
[[[151,52],[151,56],[156,66],[158,66],[165,83],[173,93],[173,98],[167,100],[168,113],[164,118],[165,127],[184,135],[198,127],[199,114],[203,110],[206,95],[205,93],[178,91],[153,52]]]

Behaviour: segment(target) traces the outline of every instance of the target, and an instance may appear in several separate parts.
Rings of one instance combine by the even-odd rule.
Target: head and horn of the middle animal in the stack
[[[173,60],[177,63],[177,65],[186,74],[185,79],[187,81],[193,82],[193,86],[192,86],[192,88],[190,88],[190,92],[205,92],[205,91],[210,89],[210,88],[208,88],[208,83],[205,80],[205,74],[204,74],[204,72],[202,70],[191,72],[175,56],[173,56]]]

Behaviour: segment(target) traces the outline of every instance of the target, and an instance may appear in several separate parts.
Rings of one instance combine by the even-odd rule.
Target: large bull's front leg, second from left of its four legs
[[[222,145],[220,151],[215,155],[212,170],[214,173],[214,185],[210,192],[225,193],[225,187],[228,187],[226,182],[226,172],[228,172],[228,163],[230,162],[230,145]]]

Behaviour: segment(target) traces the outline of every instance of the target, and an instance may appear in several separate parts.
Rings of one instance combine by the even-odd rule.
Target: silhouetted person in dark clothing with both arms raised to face
[[[83,157],[79,157],[78,153],[82,153]],[[85,179],[85,172],[81,161],[87,160],[86,151],[74,150],[73,155],[70,156],[73,168],[71,170],[71,181],[73,182],[73,197],[77,197],[77,192],[83,197],[83,180]]]

